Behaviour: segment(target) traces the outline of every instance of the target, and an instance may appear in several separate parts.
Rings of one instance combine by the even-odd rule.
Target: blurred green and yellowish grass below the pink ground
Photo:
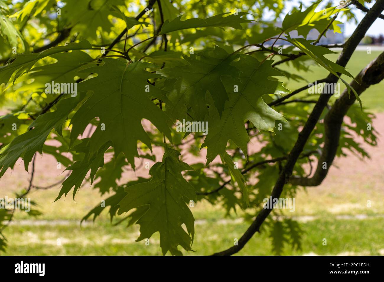
[[[336,189],[334,193],[311,190],[300,191],[296,196],[296,211],[286,211],[286,216],[299,219],[302,234],[302,249],[293,250],[287,244],[283,255],[335,255],[335,254],[384,254],[384,206],[375,202],[374,208],[366,206],[366,200],[381,199],[383,191],[364,187],[364,193],[356,193],[348,187]],[[371,189],[370,189],[371,188]],[[358,189],[358,188],[355,188]],[[32,200],[40,204],[43,212],[38,218],[30,218],[25,212],[15,214],[15,223],[8,226],[4,235],[8,239],[6,255],[161,255],[159,235],[155,233],[150,245],[145,241],[135,242],[139,236],[139,226],[126,228],[124,223],[112,226],[104,211],[93,223],[87,221],[82,226],[79,220],[101,197],[96,191],[82,188],[76,195],[52,203],[57,190],[35,191]],[[92,199],[92,200],[90,200]],[[300,201],[300,202],[299,202]],[[335,207],[343,209],[334,209]],[[192,208],[196,219],[195,252],[187,255],[209,255],[233,246],[235,238],[240,238],[248,228],[248,222],[238,220],[232,214],[225,218],[219,206],[203,201]],[[364,214],[363,218],[359,218]],[[44,221],[43,221],[44,220]],[[327,246],[323,246],[323,238]],[[57,245],[60,239],[61,245]],[[271,255],[272,241],[268,231],[255,234],[239,255]]]

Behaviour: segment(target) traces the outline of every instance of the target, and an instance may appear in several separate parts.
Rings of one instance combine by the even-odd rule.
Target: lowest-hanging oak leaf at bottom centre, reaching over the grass
[[[182,176],[183,170],[192,170],[187,163],[179,160],[180,153],[166,148],[162,162],[155,163],[149,170],[151,180],[126,188],[127,196],[119,203],[118,214],[131,209],[141,209],[137,224],[140,236],[136,241],[160,233],[160,246],[163,254],[181,255],[177,246],[191,250],[194,238],[194,217],[185,200],[197,201],[195,189]],[[135,212],[136,213],[136,212]],[[187,232],[182,228],[185,224]]]

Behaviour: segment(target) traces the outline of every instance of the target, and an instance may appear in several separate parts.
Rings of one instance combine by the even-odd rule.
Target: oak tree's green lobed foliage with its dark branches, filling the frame
[[[377,0],[334,62],[326,56],[332,46],[319,40],[327,30],[340,33],[342,21],[356,21],[356,1],[317,1],[285,14],[286,2],[0,0],[1,106],[12,103],[0,117],[0,176],[19,158],[28,171],[36,153],[50,154],[68,170],[56,200],[71,191],[75,197],[84,181],[95,180],[93,188],[108,198],[84,220],[109,209],[111,221],[140,225],[137,241],[159,232],[163,254],[193,249],[191,207],[203,200],[228,214],[242,209],[245,218],[256,216],[239,245],[220,254],[239,251],[263,222],[274,252],[285,243],[300,248],[300,225],[264,208],[263,199],[295,197],[298,185],[307,185],[301,181],[309,178],[304,168],[311,158],[326,158],[327,171],[343,150],[366,157],[351,132],[376,144],[375,131],[364,130],[372,115],[359,98],[370,84],[345,66],[384,4]],[[274,20],[265,20],[266,12]],[[312,29],[317,40],[306,39]],[[334,93],[290,98],[309,88],[295,71],[314,64],[329,72],[319,84],[341,79],[346,91],[338,106],[357,124],[340,123],[333,150],[326,117],[338,103],[329,100]],[[287,89],[283,78],[304,87]],[[207,134],[188,124],[207,124]],[[251,142],[257,152],[249,152]],[[154,147],[164,148],[164,156],[148,178],[118,184],[135,159],[153,159]],[[206,162],[187,163],[188,155]],[[271,212],[274,219],[267,218]],[[10,218],[0,209],[0,222]]]

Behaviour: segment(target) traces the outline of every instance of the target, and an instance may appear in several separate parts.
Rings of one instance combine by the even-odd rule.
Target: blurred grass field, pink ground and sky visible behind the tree
[[[303,3],[306,2],[309,3]],[[291,7],[298,6],[298,1],[290,3],[292,6],[285,8],[287,13]],[[356,15],[360,20],[364,13],[357,11]],[[268,20],[268,14],[265,17]],[[383,20],[376,20],[349,61],[347,70],[354,76],[384,51],[384,37],[381,34],[383,24]],[[331,31],[324,39],[326,41],[321,43],[342,43],[354,28],[356,23],[343,25],[341,35],[333,35]],[[316,38],[318,33],[310,33],[309,36]],[[369,53],[367,48],[370,49]],[[339,52],[341,49],[334,51]],[[329,58],[335,61],[337,56],[331,54]],[[312,66],[311,72],[297,71],[297,74],[308,81],[314,81],[325,77],[327,72],[318,66]],[[303,86],[303,82],[285,80],[285,86],[295,90]],[[364,108],[376,116],[372,127],[381,134],[376,147],[362,145],[371,158],[361,159],[348,152],[346,157],[334,161],[328,177],[320,186],[301,189],[297,193],[295,211],[284,212],[287,217],[300,223],[301,249],[293,250],[287,244],[283,247],[283,255],[384,255],[383,89],[384,82],[381,82],[371,86],[361,96]],[[6,113],[7,107],[0,109],[0,114]],[[353,124],[353,120],[346,122]],[[156,160],[160,160],[162,151],[155,150],[154,154]],[[204,150],[201,156],[205,156]],[[138,226],[126,228],[124,223],[113,226],[106,212],[94,223],[90,220],[80,225],[81,218],[108,195],[101,197],[98,191],[89,188],[89,183],[85,183],[76,194],[76,201],[70,193],[66,198],[53,202],[60,184],[52,184],[63,179],[65,174],[66,172],[56,169],[56,159],[51,155],[37,155],[34,183],[43,189],[32,191],[28,197],[37,204],[36,209],[41,214],[31,217],[30,213],[15,213],[13,221],[3,231],[8,247],[2,254],[161,255],[158,234],[151,237],[149,246],[145,241],[135,242],[139,236]],[[148,177],[148,170],[127,170],[120,183],[134,180],[138,176]],[[25,172],[20,160],[14,170],[8,170],[1,179],[0,198],[7,195],[10,197],[13,192],[27,187],[29,177],[30,174]],[[44,189],[46,186],[48,187]],[[192,245],[195,252],[183,251],[188,255],[209,255],[227,249],[232,246],[234,239],[242,236],[250,224],[242,218],[240,209],[237,213],[227,214],[220,206],[212,206],[205,201],[193,207],[192,212],[196,219],[195,240]],[[326,246],[323,245],[324,238],[327,239]],[[280,239],[284,241],[283,236]],[[238,255],[271,255],[271,240],[268,232],[255,234]]]

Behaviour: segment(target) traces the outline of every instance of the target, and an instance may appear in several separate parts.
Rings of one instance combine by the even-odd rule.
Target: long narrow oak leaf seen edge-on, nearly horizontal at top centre
[[[228,16],[228,14],[231,14]],[[227,15],[227,16],[225,16]],[[204,28],[204,27],[212,27],[212,26],[229,26],[236,29],[242,29],[241,23],[250,23],[252,20],[247,20],[246,18],[242,18],[242,16],[247,15],[245,12],[240,12],[238,15],[234,15],[233,13],[222,13],[215,16],[211,16],[209,18],[201,19],[201,18],[189,18],[185,21],[181,20],[181,16],[178,16],[172,21],[166,20],[164,25],[161,27],[159,35],[170,33],[172,31],[177,30],[185,30],[188,28]]]

